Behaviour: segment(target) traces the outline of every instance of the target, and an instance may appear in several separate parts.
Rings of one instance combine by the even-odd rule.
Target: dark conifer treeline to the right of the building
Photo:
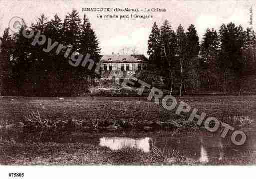
[[[244,48],[255,32],[235,23],[222,24],[219,32],[207,29],[201,44],[193,24],[176,31],[165,20],[153,24],[148,39],[149,67],[164,77],[164,88],[179,95],[205,92],[236,93],[243,90],[247,70]]]

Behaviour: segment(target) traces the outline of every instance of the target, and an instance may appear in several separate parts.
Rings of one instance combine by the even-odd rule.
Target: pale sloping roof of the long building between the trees
[[[148,59],[143,54],[138,55],[102,55],[101,62],[147,62]]]

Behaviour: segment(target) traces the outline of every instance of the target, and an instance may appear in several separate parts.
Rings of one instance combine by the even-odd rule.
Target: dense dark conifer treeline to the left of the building
[[[74,67],[68,63],[68,58],[63,55],[63,48],[56,53],[56,48],[50,52],[44,52],[47,48],[47,40],[43,45],[31,45],[34,37],[28,39],[22,35],[21,27],[19,34],[10,35],[8,28],[4,30],[1,38],[2,69],[7,69],[5,78],[2,78],[2,95],[24,96],[71,96],[78,95],[88,90],[88,81],[95,73],[82,67]],[[40,32],[51,38],[51,44],[58,42],[70,47],[72,52],[84,56],[88,53],[90,59],[95,62],[100,59],[99,42],[86,15],[80,18],[78,12],[73,10],[62,21],[55,14],[53,19],[47,19],[42,14],[35,23],[29,25],[34,34]],[[2,56],[3,57],[3,56]],[[4,67],[3,67],[4,66]]]

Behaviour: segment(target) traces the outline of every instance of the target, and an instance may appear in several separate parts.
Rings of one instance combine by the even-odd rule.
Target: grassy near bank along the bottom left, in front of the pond
[[[167,158],[159,151],[143,153],[133,148],[111,151],[84,143],[0,143],[1,165],[170,165],[177,162],[188,164],[180,157]]]

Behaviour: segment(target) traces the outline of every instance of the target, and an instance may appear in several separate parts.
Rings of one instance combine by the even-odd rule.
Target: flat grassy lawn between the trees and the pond
[[[256,96],[191,96],[180,101],[197,108],[199,114],[205,112],[234,127],[250,126],[256,119]],[[190,113],[176,115],[175,111],[165,110],[146,97],[1,97],[0,128],[197,128],[188,122]]]

